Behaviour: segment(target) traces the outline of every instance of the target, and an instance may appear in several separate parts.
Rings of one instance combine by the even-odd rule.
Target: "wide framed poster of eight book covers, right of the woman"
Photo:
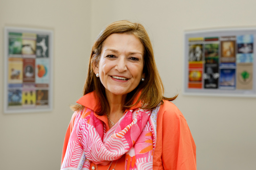
[[[184,33],[184,94],[256,97],[256,28]]]

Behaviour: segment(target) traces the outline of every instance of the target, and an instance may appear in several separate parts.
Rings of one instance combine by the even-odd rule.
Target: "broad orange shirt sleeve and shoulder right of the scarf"
[[[154,169],[194,170],[196,145],[187,121],[173,103],[165,101],[163,105],[157,118],[157,145],[162,144],[162,147],[156,145],[159,159]]]

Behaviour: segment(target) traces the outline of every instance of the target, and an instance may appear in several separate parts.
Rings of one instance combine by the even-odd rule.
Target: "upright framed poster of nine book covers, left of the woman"
[[[4,112],[52,110],[53,32],[5,27]]]

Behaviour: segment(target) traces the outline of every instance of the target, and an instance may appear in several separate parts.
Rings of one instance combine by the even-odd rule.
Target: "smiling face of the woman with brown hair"
[[[144,46],[133,34],[111,34],[103,43],[100,61],[94,67],[108,92],[125,95],[145,78],[143,74]]]

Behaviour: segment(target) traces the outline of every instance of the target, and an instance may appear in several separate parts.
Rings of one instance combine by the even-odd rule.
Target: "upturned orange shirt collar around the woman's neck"
[[[96,103],[96,98],[94,96],[95,91],[92,91],[84,96],[82,96],[80,99],[77,100],[78,104],[81,104],[91,110],[95,110],[98,103]],[[135,97],[135,99],[133,100],[132,104],[135,104],[136,101],[138,100],[138,98],[140,97],[141,91],[138,93],[138,95]],[[125,112],[129,111],[129,110],[133,110],[133,109],[137,109],[140,108],[142,106],[141,101],[138,102],[136,105],[132,106],[130,109],[126,109]]]

